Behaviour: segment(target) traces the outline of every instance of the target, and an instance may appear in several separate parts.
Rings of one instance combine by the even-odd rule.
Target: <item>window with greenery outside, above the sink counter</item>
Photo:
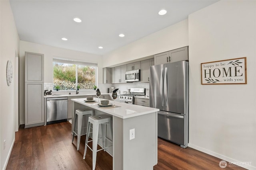
[[[96,75],[97,64],[53,59],[53,90],[92,90]]]

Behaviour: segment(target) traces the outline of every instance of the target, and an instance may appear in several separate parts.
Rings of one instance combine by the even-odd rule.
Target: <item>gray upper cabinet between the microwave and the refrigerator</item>
[[[140,82],[149,82],[149,69],[154,65],[154,58],[140,62]]]

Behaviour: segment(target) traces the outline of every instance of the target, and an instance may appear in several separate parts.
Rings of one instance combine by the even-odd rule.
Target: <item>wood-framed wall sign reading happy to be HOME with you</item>
[[[201,84],[247,84],[246,57],[201,63]]]

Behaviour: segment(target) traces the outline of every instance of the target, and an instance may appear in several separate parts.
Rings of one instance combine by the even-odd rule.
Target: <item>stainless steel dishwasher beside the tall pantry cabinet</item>
[[[46,124],[67,121],[68,98],[47,98]]]

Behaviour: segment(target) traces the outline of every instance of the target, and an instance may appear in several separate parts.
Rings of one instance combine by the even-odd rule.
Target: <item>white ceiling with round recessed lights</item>
[[[188,14],[215,2],[217,0],[10,0],[20,40],[98,55],[182,21]],[[161,9],[167,10],[167,14],[158,15]],[[76,23],[73,18],[80,18],[82,22]],[[119,37],[120,33],[125,37]]]

